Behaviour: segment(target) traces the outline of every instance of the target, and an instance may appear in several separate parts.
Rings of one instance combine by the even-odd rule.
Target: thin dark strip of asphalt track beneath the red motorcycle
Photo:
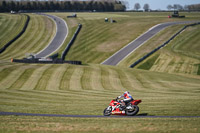
[[[43,117],[73,117],[73,118],[200,118],[200,116],[103,116],[103,115],[62,115],[62,114],[35,114],[35,113],[17,113],[17,112],[0,112],[1,116],[15,115],[15,116],[43,116]]]

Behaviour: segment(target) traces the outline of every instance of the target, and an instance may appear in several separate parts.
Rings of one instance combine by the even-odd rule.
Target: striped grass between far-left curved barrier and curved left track
[[[54,22],[42,15],[29,14],[29,16],[27,30],[1,54],[0,60],[24,58],[26,53],[37,53],[52,40],[56,30]],[[12,30],[9,34],[12,34]]]

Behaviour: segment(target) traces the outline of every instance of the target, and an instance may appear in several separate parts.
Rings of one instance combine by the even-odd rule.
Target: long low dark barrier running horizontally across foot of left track
[[[39,59],[11,59],[11,62],[17,63],[38,63],[38,64],[74,64],[74,65],[81,65],[81,61],[63,61],[61,59],[51,60],[51,61],[40,61]]]

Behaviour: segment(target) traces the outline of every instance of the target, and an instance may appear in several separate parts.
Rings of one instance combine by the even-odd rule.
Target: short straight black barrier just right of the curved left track
[[[72,39],[70,40],[70,42],[68,43],[67,47],[66,47],[65,50],[63,51],[62,56],[61,56],[61,59],[62,59],[63,61],[65,60],[65,56],[67,55],[67,53],[68,53],[70,47],[71,47],[72,44],[74,43],[74,41],[75,41],[75,39],[76,39],[78,33],[80,32],[81,28],[82,28],[82,24],[79,24],[79,25],[78,25],[78,28],[76,29],[76,32],[74,33],[74,35],[73,35],[73,37],[72,37]]]

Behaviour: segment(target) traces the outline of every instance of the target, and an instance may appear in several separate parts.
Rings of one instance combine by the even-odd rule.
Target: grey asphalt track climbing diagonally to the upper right
[[[154,35],[156,35],[161,30],[165,29],[166,27],[177,25],[177,24],[189,24],[189,23],[194,23],[194,22],[196,21],[167,22],[167,23],[161,23],[161,24],[155,25],[154,27],[146,31],[144,34],[142,34],[141,36],[133,40],[131,43],[129,43],[128,45],[120,49],[118,52],[113,54],[111,57],[109,57],[107,60],[105,60],[101,64],[115,66],[119,64],[128,55],[130,55],[132,52],[134,52],[137,48],[142,46],[142,44],[147,42],[150,38],[152,38]]]

